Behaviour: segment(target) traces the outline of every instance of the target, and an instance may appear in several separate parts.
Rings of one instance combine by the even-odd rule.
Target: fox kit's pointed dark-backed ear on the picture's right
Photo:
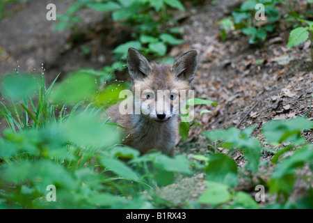
[[[179,59],[172,66],[172,74],[178,79],[184,79],[188,82],[195,77],[195,71],[198,66],[198,53],[191,50],[179,57]]]

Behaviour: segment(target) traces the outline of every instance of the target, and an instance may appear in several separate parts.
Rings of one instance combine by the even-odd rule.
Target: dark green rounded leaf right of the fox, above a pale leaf
[[[223,153],[216,153],[209,157],[209,164],[204,169],[207,180],[224,183],[230,187],[238,184],[237,164]]]

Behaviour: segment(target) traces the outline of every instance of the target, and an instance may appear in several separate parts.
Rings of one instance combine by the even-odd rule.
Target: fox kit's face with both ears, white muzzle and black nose
[[[140,107],[141,114],[157,123],[166,123],[177,116],[185,105],[197,64],[194,50],[183,54],[174,64],[150,64],[138,50],[129,48],[127,67],[135,107]]]

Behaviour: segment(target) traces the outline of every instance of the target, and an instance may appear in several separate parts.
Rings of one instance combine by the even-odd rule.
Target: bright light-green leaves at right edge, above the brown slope
[[[299,20],[299,21],[307,24],[308,26],[300,26],[296,29],[293,29],[289,34],[289,40],[288,40],[287,46],[288,48],[291,48],[291,47],[294,47],[295,45],[298,45],[310,39],[311,58],[313,62],[313,21],[307,21],[307,20]],[[310,34],[311,34],[311,38],[310,38]]]

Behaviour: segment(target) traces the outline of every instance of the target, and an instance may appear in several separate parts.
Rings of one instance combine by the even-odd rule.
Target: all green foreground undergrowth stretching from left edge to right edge
[[[260,162],[262,150],[275,153],[272,162],[277,164],[268,182],[261,182],[277,195],[267,207],[312,208],[312,188],[305,199],[289,201],[298,178],[296,169],[313,167],[313,146],[301,137],[303,130],[312,130],[312,121],[266,123],[262,142],[250,136],[253,127],[202,132],[210,142],[220,141],[218,146],[227,148],[227,154],[212,151],[214,146],[209,144],[207,155],[193,155],[191,160],[160,152],[140,155],[122,146],[116,125],[102,118],[104,105],[114,97],[117,100],[118,94],[112,93],[114,82],[99,91],[102,82],[93,72],[76,73],[57,84],[55,80],[49,87],[44,78],[43,73],[40,79],[17,72],[1,80],[6,102],[0,111],[8,123],[0,138],[1,208],[169,208],[177,204],[159,197],[157,188],[175,182],[177,174],[191,176],[199,171],[205,174],[207,191],[197,203],[186,201],[182,207],[259,208],[250,194],[236,186],[239,178],[252,182],[252,176],[259,174],[259,167],[265,165]],[[216,105],[200,99],[191,104]],[[246,158],[244,167],[232,159],[236,151]],[[242,176],[243,172],[248,174]],[[47,199],[49,185],[56,187],[56,201]]]

